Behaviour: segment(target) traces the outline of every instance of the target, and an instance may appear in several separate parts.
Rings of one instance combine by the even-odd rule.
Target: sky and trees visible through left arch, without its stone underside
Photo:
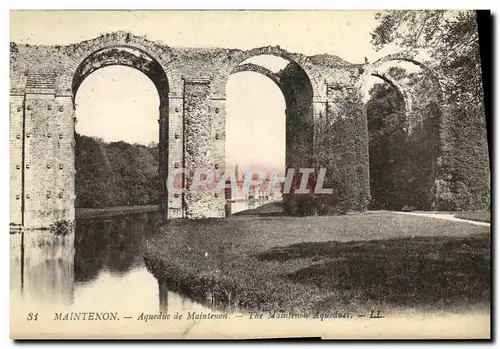
[[[151,81],[106,67],[85,79],[75,105],[75,207],[158,204],[159,99]]]

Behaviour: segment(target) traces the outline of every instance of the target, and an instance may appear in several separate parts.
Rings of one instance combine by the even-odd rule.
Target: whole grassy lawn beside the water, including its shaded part
[[[174,220],[145,261],[174,291],[263,311],[489,306],[489,228],[388,212]]]

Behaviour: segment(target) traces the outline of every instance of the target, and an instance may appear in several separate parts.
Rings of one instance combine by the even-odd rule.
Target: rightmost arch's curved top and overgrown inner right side
[[[416,82],[411,80],[403,82],[400,81],[401,77],[396,78],[383,72],[383,67],[398,62],[409,62],[417,66],[422,71],[419,79]],[[407,77],[415,76],[415,73],[406,74]],[[400,148],[398,151],[400,159],[391,160],[395,173],[385,176],[393,177],[394,181],[393,195],[395,196],[390,200],[390,207],[401,209],[404,206],[412,206],[423,210],[434,209],[435,186],[440,175],[439,158],[443,150],[442,91],[439,81],[430,68],[405,54],[389,55],[377,60],[366,69],[365,79],[369,75],[379,78],[394,88],[402,97],[405,106],[406,137],[394,145]],[[410,169],[412,166],[413,168]],[[407,176],[411,178],[406,178]],[[372,189],[376,187],[373,182],[371,186]]]

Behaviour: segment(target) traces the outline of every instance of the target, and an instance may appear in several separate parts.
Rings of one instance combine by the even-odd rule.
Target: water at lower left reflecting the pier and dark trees
[[[130,316],[167,309],[210,311],[171,292],[146,270],[143,246],[157,225],[157,213],[150,212],[78,220],[74,234],[66,237],[48,231],[11,234],[14,306],[59,305]]]

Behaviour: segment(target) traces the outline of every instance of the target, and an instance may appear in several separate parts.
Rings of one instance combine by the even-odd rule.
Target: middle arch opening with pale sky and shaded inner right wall
[[[250,188],[248,193],[231,193],[226,199],[257,201],[252,208],[269,201],[283,201],[282,207],[277,205],[281,211],[305,213],[302,201],[307,198],[283,194],[283,182],[276,183],[273,177],[284,178],[290,168],[313,165],[313,88],[307,73],[295,61],[281,55],[253,56],[232,71],[226,97],[227,167],[235,170],[238,188],[244,176],[250,175],[247,168],[266,174],[262,185]],[[238,142],[251,144],[253,150],[248,146],[238,150],[237,144],[241,144]],[[299,176],[298,171],[295,176]]]

